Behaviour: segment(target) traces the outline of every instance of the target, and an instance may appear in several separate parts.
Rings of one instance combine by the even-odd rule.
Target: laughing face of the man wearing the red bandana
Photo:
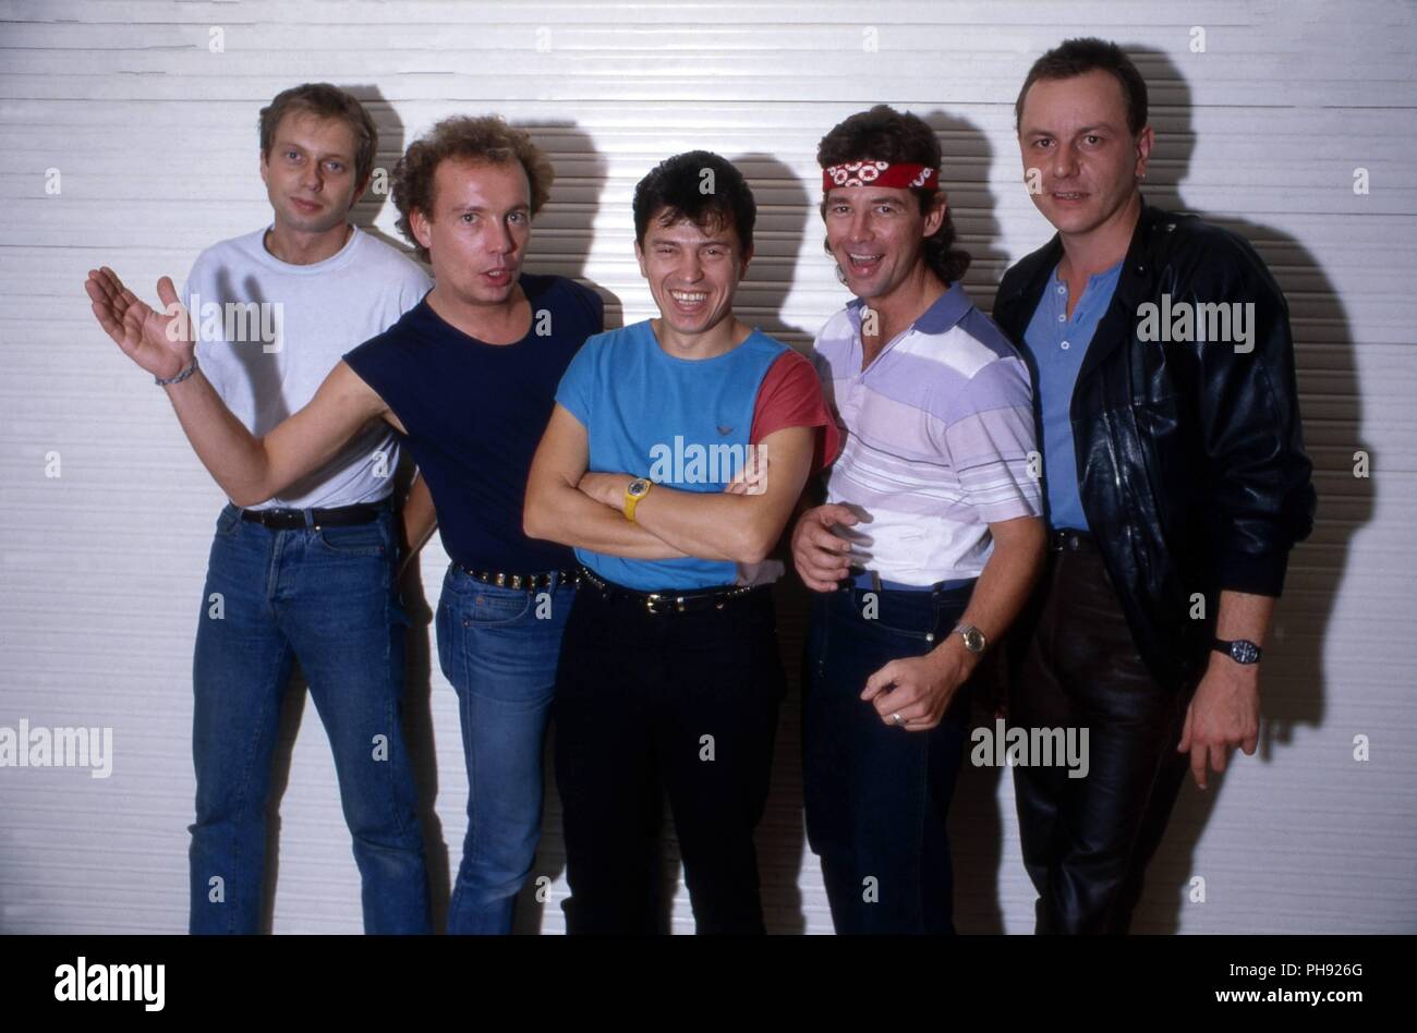
[[[944,194],[920,210],[904,187],[833,187],[823,203],[826,247],[836,258],[846,286],[866,300],[888,298],[917,278],[925,238],[945,218]]]

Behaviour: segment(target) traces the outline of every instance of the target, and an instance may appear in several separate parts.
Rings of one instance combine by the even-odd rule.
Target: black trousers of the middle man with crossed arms
[[[655,931],[663,792],[697,931],[764,931],[752,833],[785,692],[767,589],[655,615],[581,585],[553,704],[570,932]]]

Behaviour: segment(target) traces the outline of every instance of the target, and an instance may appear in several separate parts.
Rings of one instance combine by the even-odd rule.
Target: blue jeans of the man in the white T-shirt
[[[323,530],[272,530],[221,510],[193,660],[191,932],[259,931],[271,767],[295,659],[334,752],[364,931],[431,931],[402,733],[408,621],[395,553],[387,509]]]

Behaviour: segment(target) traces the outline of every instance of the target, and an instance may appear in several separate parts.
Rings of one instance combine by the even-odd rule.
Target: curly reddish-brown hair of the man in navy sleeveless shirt
[[[446,159],[485,162],[487,164],[520,164],[531,184],[531,215],[536,217],[551,197],[555,170],[550,159],[531,142],[524,129],[509,126],[497,115],[470,118],[456,115],[444,119],[428,133],[410,145],[408,152],[394,166],[393,194],[398,208],[398,231],[418,248],[418,256],[428,261],[428,248],[414,237],[408,221],[414,210],[432,218],[434,174]]]

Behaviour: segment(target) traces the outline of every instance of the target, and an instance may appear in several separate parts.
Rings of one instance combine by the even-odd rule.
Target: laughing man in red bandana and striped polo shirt
[[[930,126],[881,105],[832,129],[818,162],[826,248],[856,298],[816,339],[846,444],[792,536],[816,592],[808,839],[837,932],[952,932],[961,689],[1043,555],[1029,377],[959,282]]]

